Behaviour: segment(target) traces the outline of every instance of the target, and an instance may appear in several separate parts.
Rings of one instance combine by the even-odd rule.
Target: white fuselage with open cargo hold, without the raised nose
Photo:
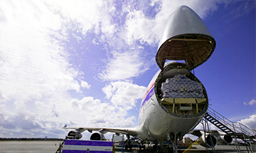
[[[139,109],[137,137],[158,140],[168,133],[182,137],[198,125],[207,108],[206,89],[188,65],[169,63],[149,83]]]

